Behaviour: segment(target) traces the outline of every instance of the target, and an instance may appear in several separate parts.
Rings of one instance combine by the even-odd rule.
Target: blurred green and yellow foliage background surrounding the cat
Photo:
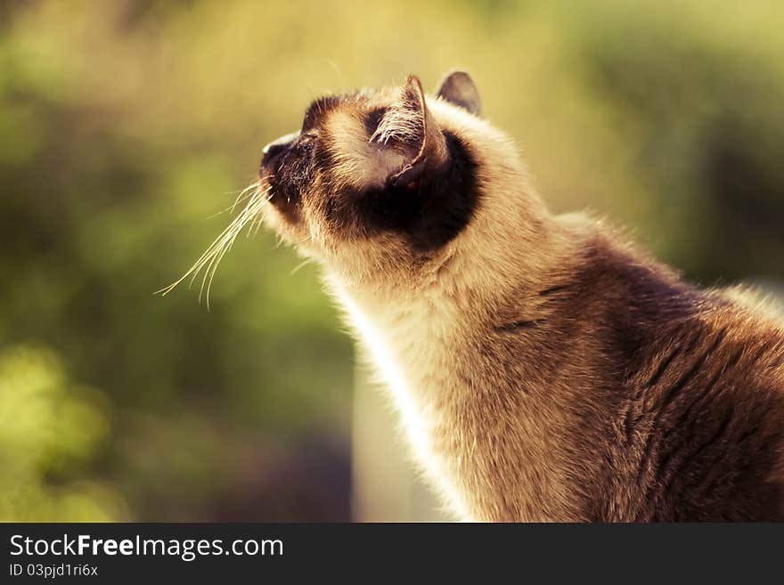
[[[784,5],[0,2],[0,519],[345,519],[352,351],[270,234],[154,290],[317,93],[470,69],[558,210],[784,276]]]

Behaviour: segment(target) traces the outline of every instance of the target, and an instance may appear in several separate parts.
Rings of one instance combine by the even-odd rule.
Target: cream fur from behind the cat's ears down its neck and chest
[[[494,502],[497,487],[484,484],[494,474],[483,467],[504,464],[519,472],[516,492],[527,492],[527,483],[549,487],[547,501],[519,504],[520,517],[551,519],[569,500],[559,477],[564,466],[556,465],[558,455],[550,451],[557,429],[546,428],[524,406],[504,405],[492,366],[485,377],[473,374],[478,370],[478,331],[498,320],[508,299],[521,292],[521,283],[535,291],[538,279],[566,260],[567,239],[558,245],[547,240],[558,239],[568,228],[545,212],[505,136],[445,102],[429,99],[428,105],[439,126],[467,136],[480,157],[486,153],[479,180],[492,196],[482,199],[466,230],[437,257],[410,267],[413,273],[383,271],[388,275],[383,278],[374,271],[368,279],[346,263],[347,256],[360,258],[364,250],[346,254],[341,249],[334,264],[327,260],[326,281],[393,397],[415,460],[457,516],[500,516]],[[355,132],[358,127],[347,134]],[[541,213],[532,214],[532,207]],[[532,224],[532,218],[539,219]],[[538,223],[545,221],[546,226]],[[558,249],[559,254],[532,255],[531,248]],[[494,412],[477,416],[488,408]],[[496,428],[485,426],[488,419]],[[499,461],[494,434],[506,435],[498,436],[499,442],[518,443],[518,461]],[[553,466],[546,467],[549,460]]]

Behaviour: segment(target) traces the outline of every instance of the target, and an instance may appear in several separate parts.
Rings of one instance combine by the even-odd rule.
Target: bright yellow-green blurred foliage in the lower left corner
[[[0,521],[124,516],[116,492],[79,478],[108,435],[105,410],[102,395],[74,387],[53,353],[0,354]]]

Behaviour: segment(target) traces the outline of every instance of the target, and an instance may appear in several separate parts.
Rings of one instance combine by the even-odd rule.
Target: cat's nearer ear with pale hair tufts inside
[[[418,182],[428,169],[443,167],[449,158],[444,134],[415,76],[406,77],[398,99],[381,118],[371,140],[403,152],[403,164],[388,176],[388,183],[397,186]]]

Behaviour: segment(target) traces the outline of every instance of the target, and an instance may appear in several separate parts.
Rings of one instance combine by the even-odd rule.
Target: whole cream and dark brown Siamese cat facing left
[[[784,520],[784,321],[551,214],[466,73],[315,100],[253,189],[194,270],[261,221],[320,263],[462,519]]]

